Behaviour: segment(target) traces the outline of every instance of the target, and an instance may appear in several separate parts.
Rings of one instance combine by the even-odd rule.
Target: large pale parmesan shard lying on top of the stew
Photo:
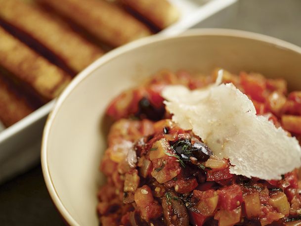
[[[252,101],[233,84],[202,90],[168,86],[162,96],[175,123],[200,136],[217,157],[230,160],[230,173],[280,180],[301,166],[298,140],[256,115]]]

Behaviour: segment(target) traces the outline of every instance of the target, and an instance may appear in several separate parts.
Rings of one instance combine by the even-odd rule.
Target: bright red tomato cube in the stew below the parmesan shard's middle
[[[218,190],[219,206],[225,210],[234,210],[243,202],[243,192],[239,185],[230,186]]]

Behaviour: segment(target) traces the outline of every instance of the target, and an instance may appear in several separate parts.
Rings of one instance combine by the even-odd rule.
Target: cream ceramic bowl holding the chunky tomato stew
[[[69,225],[97,226],[98,171],[109,101],[161,69],[209,73],[255,71],[284,77],[301,89],[301,48],[233,30],[203,29],[157,36],[117,48],[79,74],[58,98],[43,134],[42,167],[48,191]]]

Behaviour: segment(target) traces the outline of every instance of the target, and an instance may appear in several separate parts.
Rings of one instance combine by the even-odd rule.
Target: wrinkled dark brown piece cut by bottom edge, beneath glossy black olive
[[[175,193],[170,192],[170,198],[162,199],[164,222],[167,226],[188,226],[189,217],[187,209]]]

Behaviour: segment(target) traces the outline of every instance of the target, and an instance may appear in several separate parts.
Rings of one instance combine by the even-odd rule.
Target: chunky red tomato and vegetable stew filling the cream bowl
[[[100,170],[107,182],[98,192],[103,226],[294,226],[301,219],[301,183],[296,169],[280,181],[233,175],[228,159],[191,131],[174,124],[160,93],[166,85],[198,89],[210,76],[162,71],[126,90],[107,108],[114,123]],[[301,140],[301,91],[285,80],[224,71],[253,101],[257,113]]]

